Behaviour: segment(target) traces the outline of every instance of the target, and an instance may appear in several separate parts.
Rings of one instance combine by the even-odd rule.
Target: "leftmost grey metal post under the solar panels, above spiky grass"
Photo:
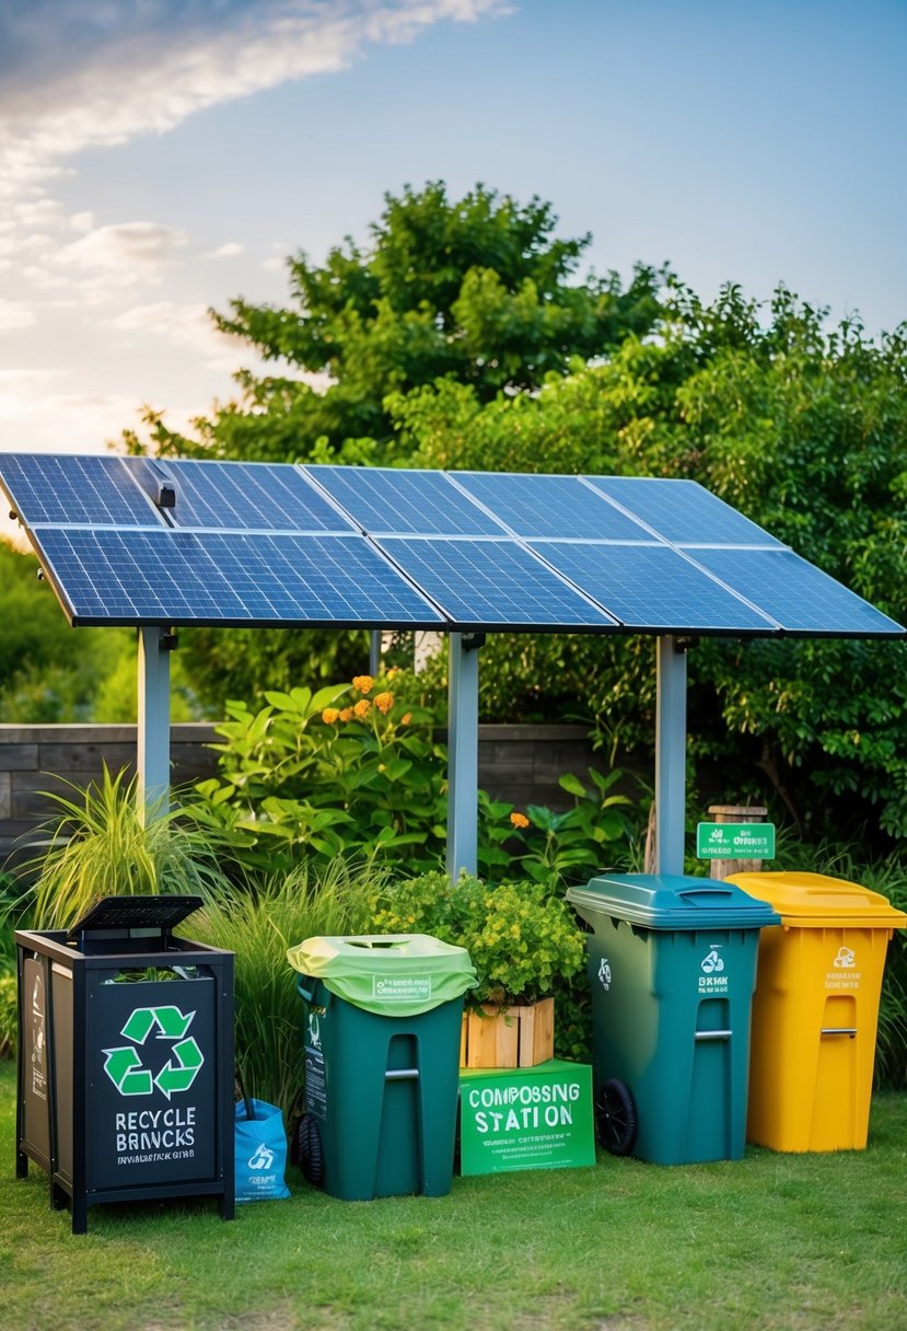
[[[173,634],[138,630],[138,813],[142,823],[166,813],[170,793],[170,651]]]

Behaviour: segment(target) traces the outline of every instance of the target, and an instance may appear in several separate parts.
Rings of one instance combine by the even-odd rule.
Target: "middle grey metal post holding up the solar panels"
[[[479,821],[479,652],[481,634],[451,634],[448,658],[447,872],[476,872]]]

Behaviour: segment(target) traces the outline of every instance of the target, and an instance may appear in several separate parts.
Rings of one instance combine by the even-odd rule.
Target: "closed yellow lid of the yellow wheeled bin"
[[[734,873],[727,882],[735,882],[745,892],[757,892],[778,910],[783,924],[803,928],[856,928],[903,929],[907,914],[895,909],[880,892],[871,892],[859,882],[830,878],[825,873]]]

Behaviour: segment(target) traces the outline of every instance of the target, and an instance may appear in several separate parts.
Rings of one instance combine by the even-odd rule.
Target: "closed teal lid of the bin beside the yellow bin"
[[[781,924],[777,912],[733,882],[681,873],[609,873],[567,900],[584,920],[606,914],[646,929],[761,929]]]

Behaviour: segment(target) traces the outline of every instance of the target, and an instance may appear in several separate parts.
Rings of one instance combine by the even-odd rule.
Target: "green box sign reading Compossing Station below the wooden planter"
[[[460,1173],[594,1165],[592,1067],[460,1069]]]

